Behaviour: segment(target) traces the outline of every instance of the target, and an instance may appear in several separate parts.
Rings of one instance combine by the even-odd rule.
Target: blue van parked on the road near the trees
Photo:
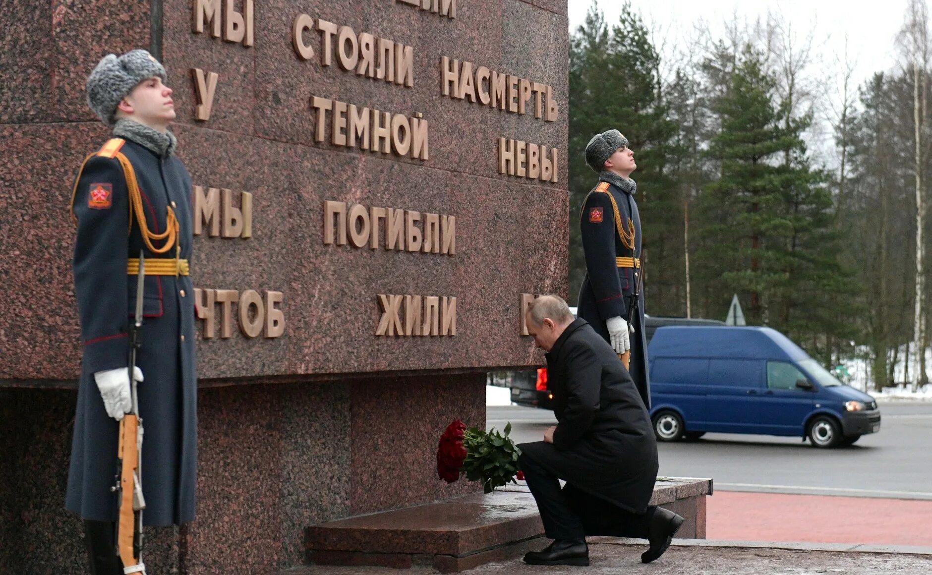
[[[769,327],[661,327],[648,358],[658,441],[717,431],[798,435],[833,447],[880,431],[870,395]]]

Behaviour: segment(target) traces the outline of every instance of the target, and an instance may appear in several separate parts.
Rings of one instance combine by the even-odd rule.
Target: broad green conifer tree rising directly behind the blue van
[[[748,322],[825,353],[827,335],[850,333],[838,310],[851,282],[838,262],[827,176],[812,168],[802,141],[811,116],[789,117],[788,105],[774,102],[774,78],[750,46],[727,88],[709,146],[720,179],[702,198],[706,279],[720,308],[745,295]]]

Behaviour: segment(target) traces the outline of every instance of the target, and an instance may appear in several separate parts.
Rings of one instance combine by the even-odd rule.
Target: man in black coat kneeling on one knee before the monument
[[[650,563],[683,523],[648,505],[657,479],[651,418],[618,354],[567,303],[543,295],[528,308],[528,333],[548,351],[547,381],[558,425],[543,441],[521,444],[518,465],[537,500],[546,549],[525,555],[532,565],[589,565],[587,535],[650,541]],[[559,479],[566,481],[560,488]]]

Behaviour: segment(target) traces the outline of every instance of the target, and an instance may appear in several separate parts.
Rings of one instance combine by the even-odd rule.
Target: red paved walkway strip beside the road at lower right
[[[716,491],[706,537],[932,546],[932,501]]]

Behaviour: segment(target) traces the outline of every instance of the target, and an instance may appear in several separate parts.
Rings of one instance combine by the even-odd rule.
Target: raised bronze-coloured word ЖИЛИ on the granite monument
[[[456,297],[378,294],[378,305],[376,335],[457,335]]]

